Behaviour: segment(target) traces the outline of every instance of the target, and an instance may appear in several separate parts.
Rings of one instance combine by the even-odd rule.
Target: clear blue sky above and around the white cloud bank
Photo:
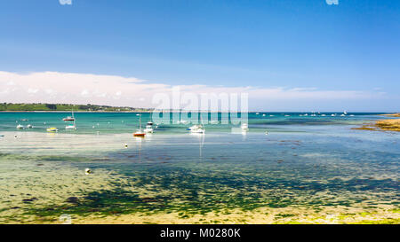
[[[321,106],[310,98],[274,106],[328,110],[351,103],[348,109],[355,111],[400,109],[400,1],[0,4],[3,72],[107,74],[167,85],[364,91],[374,98],[322,99]],[[254,108],[272,106],[258,99],[252,101]]]

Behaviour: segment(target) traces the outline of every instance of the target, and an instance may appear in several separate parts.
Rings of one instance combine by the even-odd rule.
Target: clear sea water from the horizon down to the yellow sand
[[[398,207],[399,134],[351,129],[377,113],[262,114],[249,113],[246,133],[214,123],[193,135],[189,124],[160,124],[142,139],[132,137],[136,113],[75,113],[76,131],[64,129],[68,113],[0,113],[0,219]]]

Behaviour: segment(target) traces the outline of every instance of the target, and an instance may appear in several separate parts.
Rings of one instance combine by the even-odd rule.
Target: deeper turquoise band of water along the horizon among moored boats
[[[25,131],[45,132],[46,128],[55,127],[60,129],[61,133],[70,133],[70,131],[64,130],[67,123],[62,121],[63,118],[70,114],[71,113],[1,113],[0,130],[14,131],[18,124],[24,126],[30,124],[34,128]],[[139,116],[137,114],[138,113],[75,113],[76,125],[79,129],[74,131],[74,133],[93,134],[100,131],[101,133],[106,132],[111,134],[132,132],[132,130],[138,129],[139,127]],[[263,116],[263,114],[265,116]],[[316,116],[310,116],[311,113],[307,113],[308,116],[300,116],[304,114],[306,113],[249,113],[248,122],[250,128],[252,128],[251,131],[264,131],[264,129],[292,129],[296,126],[301,128],[316,125],[359,124],[363,123],[365,120],[373,121],[380,119],[380,116],[376,115],[378,113],[348,113],[345,117],[340,116],[341,113],[334,113],[336,114],[334,117],[331,116],[333,113],[321,113]],[[322,116],[322,114],[325,116]],[[231,130],[229,128],[235,127],[235,125],[222,124],[220,113],[218,117],[219,119],[216,120],[215,115],[209,115],[209,121],[204,120],[208,131],[230,132]],[[151,113],[141,113],[141,120],[144,127],[147,121],[152,120]],[[160,125],[157,131],[160,133],[186,133],[185,129],[182,128],[188,128],[189,125],[177,124],[177,121],[179,121],[179,119],[172,121],[171,115],[171,121]]]

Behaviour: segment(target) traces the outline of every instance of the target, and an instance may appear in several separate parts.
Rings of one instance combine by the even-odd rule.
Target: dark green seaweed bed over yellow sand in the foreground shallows
[[[42,164],[37,168],[43,168],[52,157],[36,159]],[[64,160],[74,158],[57,162]],[[18,206],[0,211],[0,215],[13,211],[0,216],[1,221],[58,223],[60,215],[70,215],[76,223],[399,222],[396,192],[388,192],[396,191],[398,185],[392,179],[332,178],[321,182],[266,176],[257,170],[249,176],[247,171],[204,173],[174,166],[135,168],[132,173],[108,178],[104,189],[89,191],[92,183],[82,183],[78,191],[62,194],[58,201],[40,203],[45,196],[24,194]]]

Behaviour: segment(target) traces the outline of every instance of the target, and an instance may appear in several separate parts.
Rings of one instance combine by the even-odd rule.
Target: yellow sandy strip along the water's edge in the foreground
[[[240,209],[227,211],[228,214],[208,213],[181,218],[179,213],[133,214],[133,215],[68,215],[59,217],[31,216],[25,223],[45,224],[350,224],[350,223],[400,223],[398,209],[388,206],[375,209],[363,207],[329,207],[318,212],[301,207],[259,208],[254,211]]]

